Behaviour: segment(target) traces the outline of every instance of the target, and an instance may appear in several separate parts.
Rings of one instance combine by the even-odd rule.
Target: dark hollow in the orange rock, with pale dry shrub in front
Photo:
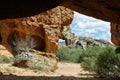
[[[36,35],[26,35],[24,33],[14,31],[9,34],[7,42],[11,46],[13,54],[19,53],[19,49],[45,51],[44,39]]]

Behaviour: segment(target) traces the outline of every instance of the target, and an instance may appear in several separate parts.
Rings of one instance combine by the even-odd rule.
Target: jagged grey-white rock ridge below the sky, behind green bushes
[[[75,36],[74,33],[71,32],[70,26],[65,26],[63,31],[61,32],[60,38],[65,40],[66,46],[69,48],[83,48],[85,49],[88,46],[111,46],[113,45],[103,39],[94,39],[92,37],[80,37]]]

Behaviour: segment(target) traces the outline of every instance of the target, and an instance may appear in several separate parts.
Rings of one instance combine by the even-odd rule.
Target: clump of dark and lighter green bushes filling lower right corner
[[[111,47],[102,48],[96,51],[96,56],[86,56],[81,62],[83,69],[96,72],[104,78],[120,78],[120,54],[116,54]]]

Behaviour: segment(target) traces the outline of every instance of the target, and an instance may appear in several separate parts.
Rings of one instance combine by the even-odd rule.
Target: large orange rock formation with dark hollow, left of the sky
[[[58,40],[63,26],[69,25],[72,19],[73,11],[59,6],[27,18],[1,20],[0,42],[14,56],[20,53],[31,53],[31,51],[33,53],[33,50],[37,50],[49,53],[48,55],[45,54],[49,58],[48,56],[53,54],[58,48]],[[56,57],[53,59],[56,59]],[[56,64],[55,60],[49,61]],[[39,63],[39,60],[37,62]]]

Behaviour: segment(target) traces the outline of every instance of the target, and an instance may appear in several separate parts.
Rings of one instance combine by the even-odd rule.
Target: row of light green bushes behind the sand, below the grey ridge
[[[61,47],[56,51],[56,56],[60,61],[81,63],[84,61],[84,58],[96,57],[97,53],[101,52],[102,49],[98,46],[88,47],[85,50],[81,48],[70,49],[68,47]]]

